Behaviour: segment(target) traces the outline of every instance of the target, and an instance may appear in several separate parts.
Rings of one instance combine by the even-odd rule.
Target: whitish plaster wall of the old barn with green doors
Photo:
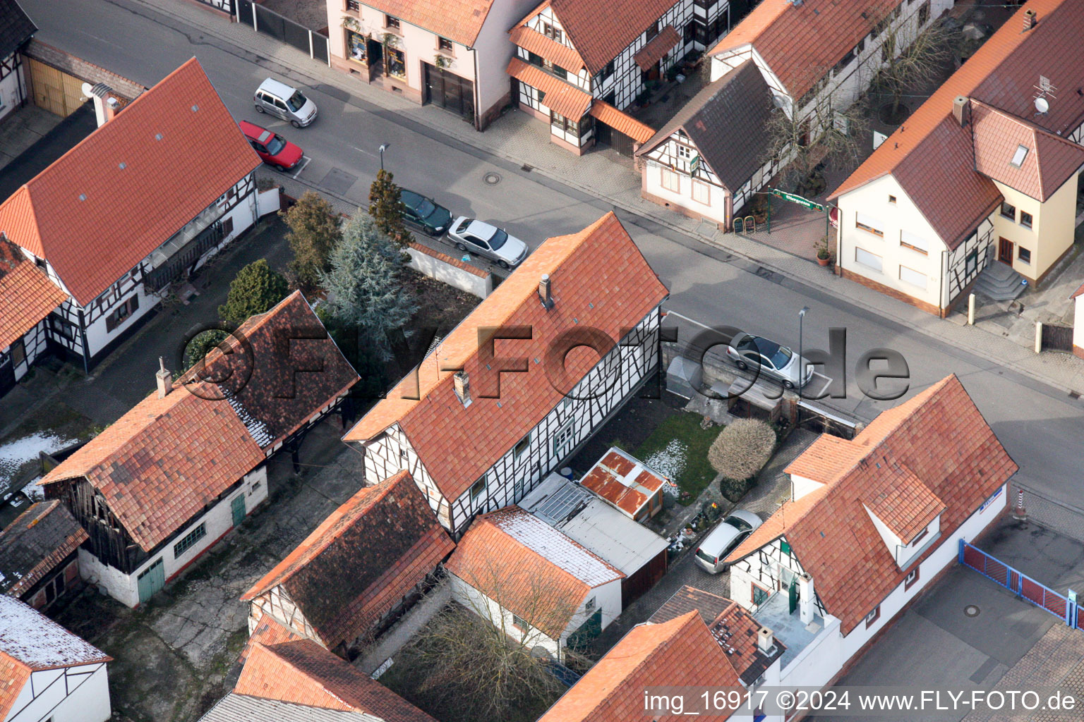
[[[102,563],[96,556],[80,548],[80,576],[90,583],[105,587],[109,592],[109,596],[121,604],[130,607],[137,606],[139,604],[139,575],[160,559],[166,580],[168,581],[176,576],[186,564],[207,551],[227,531],[233,528],[233,515],[230,511],[230,504],[234,498],[241,495],[245,497],[246,515],[250,514],[257,504],[267,499],[268,480],[266,465],[260,465],[258,469],[245,474],[240,488],[211,507],[207,513],[195,522],[184,527],[180,534],[177,534],[163,549],[159,549],[157,553],[150,556],[131,574],[125,574],[108,564]],[[173,544],[184,538],[190,530],[204,523],[207,524],[207,534],[198,542],[186,549],[180,556],[175,557]]]

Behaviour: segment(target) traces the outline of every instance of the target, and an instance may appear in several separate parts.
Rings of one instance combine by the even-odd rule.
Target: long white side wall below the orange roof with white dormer
[[[862,648],[874,634],[901,611],[911,600],[942,569],[955,563],[959,553],[959,540],[973,539],[1005,508],[1008,494],[1007,485],[1002,485],[999,496],[994,498],[986,509],[976,510],[953,534],[947,535],[919,564],[918,580],[911,589],[904,591],[903,582],[889,593],[880,603],[880,617],[870,627],[864,621],[851,630],[847,636],[839,633],[839,620],[836,617],[825,618],[825,629],[783,670],[783,684],[800,686],[823,686],[835,677],[847,661]],[[815,580],[814,580],[815,581]],[[733,581],[732,581],[733,587]],[[873,609],[869,609],[870,612]],[[786,644],[786,640],[783,640]]]

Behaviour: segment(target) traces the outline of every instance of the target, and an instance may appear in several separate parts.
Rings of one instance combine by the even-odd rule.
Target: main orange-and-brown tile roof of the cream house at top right
[[[1038,22],[1022,32],[1022,13],[1028,10],[1037,13]],[[1051,52],[1070,53],[1084,38],[1084,14],[1077,10],[1071,0],[1030,0],[1021,6],[830,198],[891,173],[950,248],[958,246],[1002,196],[976,171],[972,127],[959,127],[953,101],[970,97],[1028,118],[1055,135],[1071,132],[1084,121],[1084,97],[1062,93],[1040,117],[1033,99],[1040,73],[1057,88],[1084,86],[1084,63],[1048,62]]]

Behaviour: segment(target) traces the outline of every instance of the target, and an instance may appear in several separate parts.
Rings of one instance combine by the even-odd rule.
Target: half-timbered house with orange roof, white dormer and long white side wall
[[[726,557],[731,596],[788,645],[782,683],[830,684],[997,520],[1016,471],[955,376],[853,441],[818,437],[786,469],[790,499]]]

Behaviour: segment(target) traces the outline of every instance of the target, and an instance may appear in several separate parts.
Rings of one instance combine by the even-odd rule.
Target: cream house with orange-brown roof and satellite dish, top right
[[[1056,90],[1084,64],[1049,57],[1082,42],[1075,3],[1017,11],[831,193],[839,273],[939,316],[995,261],[985,292],[1041,284],[1073,248],[1084,168],[1084,99]]]

